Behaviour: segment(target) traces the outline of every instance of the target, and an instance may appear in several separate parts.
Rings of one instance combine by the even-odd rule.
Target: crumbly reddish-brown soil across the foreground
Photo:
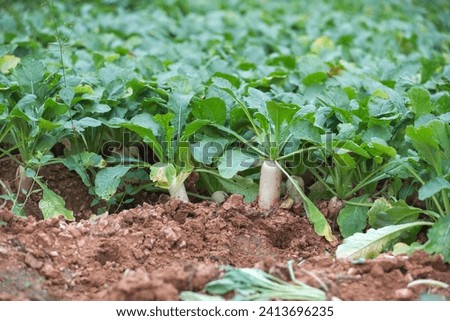
[[[14,171],[3,165],[0,179],[12,184]],[[416,300],[426,293],[450,299],[450,289],[407,288],[417,279],[450,284],[440,257],[336,260],[337,244],[318,237],[299,209],[261,213],[233,195],[222,205],[144,203],[82,219],[89,217],[91,198],[76,174],[60,166],[41,174],[78,222],[18,219],[8,206],[0,209],[3,300],[177,300],[180,291],[201,291],[220,277],[221,265],[255,266],[288,280],[291,259],[298,279],[325,288],[329,299]]]

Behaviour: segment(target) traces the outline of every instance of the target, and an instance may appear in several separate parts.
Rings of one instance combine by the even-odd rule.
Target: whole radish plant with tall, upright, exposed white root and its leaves
[[[220,175],[232,179],[240,171],[260,166],[258,206],[263,210],[270,210],[280,200],[284,174],[303,198],[306,213],[316,233],[331,241],[333,236],[325,217],[286,171],[284,164],[286,160],[305,152],[306,149],[300,148],[301,142],[320,140],[319,129],[296,116],[300,110],[297,105],[275,102],[253,88],[249,89],[249,96],[244,103],[230,84],[227,87],[220,87],[220,84],[227,84],[227,81],[216,81],[216,86],[234,99],[245,115],[248,131],[252,134],[250,139],[246,139],[233,129],[211,123],[211,126],[234,137],[243,146],[225,150],[218,164]],[[245,130],[243,134],[247,135]]]

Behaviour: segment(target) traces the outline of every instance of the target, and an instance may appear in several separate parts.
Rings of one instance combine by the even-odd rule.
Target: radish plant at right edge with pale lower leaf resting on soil
[[[426,104],[426,100],[425,97],[422,104]],[[411,243],[426,226],[429,227],[428,241],[412,243],[406,251],[421,249],[432,254],[440,253],[450,262],[450,125],[441,117],[429,115],[428,118],[429,121],[421,126],[406,128],[406,144],[413,156],[398,157],[387,171],[390,176],[410,179],[418,184],[417,197],[425,202],[425,208],[409,206],[404,200],[392,202],[378,198],[368,211],[372,229],[346,239],[336,252],[338,257],[373,257],[396,242]]]

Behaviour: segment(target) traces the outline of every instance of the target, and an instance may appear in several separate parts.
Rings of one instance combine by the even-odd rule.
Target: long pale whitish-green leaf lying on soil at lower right
[[[433,225],[430,222],[413,222],[390,225],[380,229],[369,229],[366,233],[355,233],[338,246],[338,259],[371,259],[393,244],[403,232],[417,226]]]

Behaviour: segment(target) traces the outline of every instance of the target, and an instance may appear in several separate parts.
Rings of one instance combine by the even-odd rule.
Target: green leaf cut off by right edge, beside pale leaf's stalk
[[[428,230],[427,236],[424,250],[430,254],[442,254],[445,262],[450,263],[450,215],[441,216]]]

